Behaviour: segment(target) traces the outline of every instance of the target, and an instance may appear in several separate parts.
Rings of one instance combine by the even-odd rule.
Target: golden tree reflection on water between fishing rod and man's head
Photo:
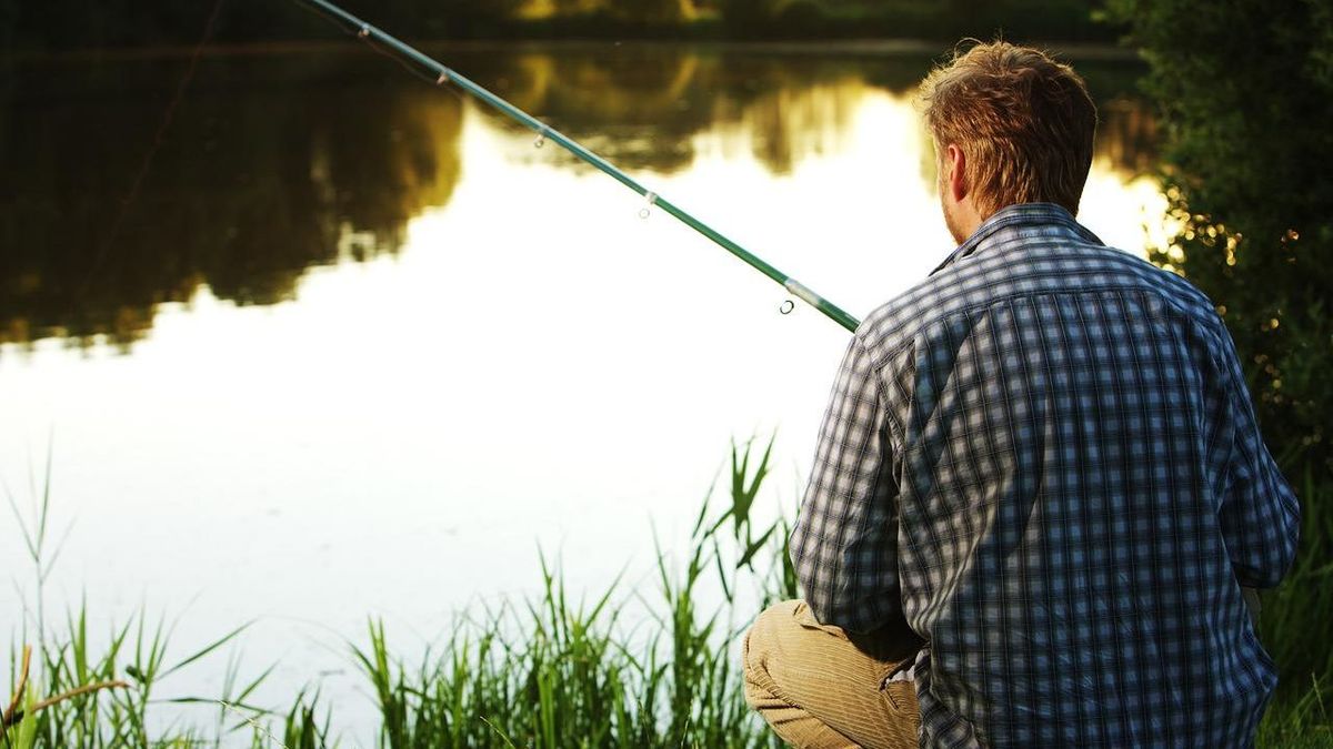
[[[689,167],[693,136],[710,129],[740,129],[754,157],[786,173],[801,153],[837,147],[866,88],[865,71],[852,63],[672,47],[532,53],[513,63],[515,75],[487,76],[507,97],[624,168],[666,173]]]

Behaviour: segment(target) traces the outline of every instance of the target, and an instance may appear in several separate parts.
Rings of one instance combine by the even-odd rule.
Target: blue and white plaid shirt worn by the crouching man
[[[792,558],[821,622],[924,638],[922,745],[1238,746],[1297,524],[1212,303],[1028,204],[857,329]]]

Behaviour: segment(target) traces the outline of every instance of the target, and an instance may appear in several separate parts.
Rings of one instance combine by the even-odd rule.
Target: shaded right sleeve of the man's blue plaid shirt
[[[1221,332],[1222,388],[1230,413],[1230,452],[1220,518],[1236,580],[1250,588],[1281,582],[1296,557],[1301,512],[1296,494],[1264,445],[1236,344]]]

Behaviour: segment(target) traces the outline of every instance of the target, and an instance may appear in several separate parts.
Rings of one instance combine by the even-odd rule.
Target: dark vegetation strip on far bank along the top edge
[[[212,40],[303,41],[337,33],[299,3],[227,3]],[[197,44],[211,3],[159,7],[111,0],[23,4],[0,0],[0,51]],[[404,39],[670,41],[924,39],[1114,43],[1125,27],[1092,0],[345,0],[344,7]]]

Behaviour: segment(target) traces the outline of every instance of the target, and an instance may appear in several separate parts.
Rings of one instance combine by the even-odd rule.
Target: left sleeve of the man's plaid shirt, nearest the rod
[[[848,345],[790,537],[792,564],[821,624],[868,632],[901,617],[897,486],[878,374]]]

